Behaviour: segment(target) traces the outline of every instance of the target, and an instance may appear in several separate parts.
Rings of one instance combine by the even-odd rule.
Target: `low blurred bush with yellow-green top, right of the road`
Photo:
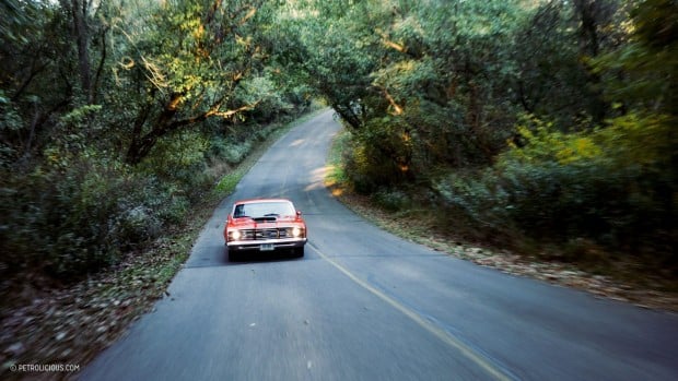
[[[676,264],[676,136],[669,118],[628,115],[570,133],[537,123],[480,174],[434,182],[448,211],[541,241],[585,239]]]

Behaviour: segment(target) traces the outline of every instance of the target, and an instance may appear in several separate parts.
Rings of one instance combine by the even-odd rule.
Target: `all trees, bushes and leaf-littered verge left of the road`
[[[0,2],[3,378],[119,336],[253,153],[317,107],[276,74],[274,7]]]

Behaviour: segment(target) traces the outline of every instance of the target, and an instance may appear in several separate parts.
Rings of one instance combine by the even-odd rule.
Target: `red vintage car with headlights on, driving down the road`
[[[306,223],[287,199],[236,201],[224,227],[224,240],[231,260],[247,251],[290,250],[304,257]]]

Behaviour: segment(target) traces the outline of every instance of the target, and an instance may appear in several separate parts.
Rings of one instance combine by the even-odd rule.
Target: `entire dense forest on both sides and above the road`
[[[182,222],[319,97],[347,181],[468,238],[678,269],[675,0],[0,2],[0,272]],[[412,206],[416,205],[416,206]]]

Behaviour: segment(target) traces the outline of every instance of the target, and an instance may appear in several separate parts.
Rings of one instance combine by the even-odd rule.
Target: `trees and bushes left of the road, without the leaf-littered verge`
[[[305,110],[269,63],[279,7],[0,2],[0,274],[68,281],[143,249]]]

